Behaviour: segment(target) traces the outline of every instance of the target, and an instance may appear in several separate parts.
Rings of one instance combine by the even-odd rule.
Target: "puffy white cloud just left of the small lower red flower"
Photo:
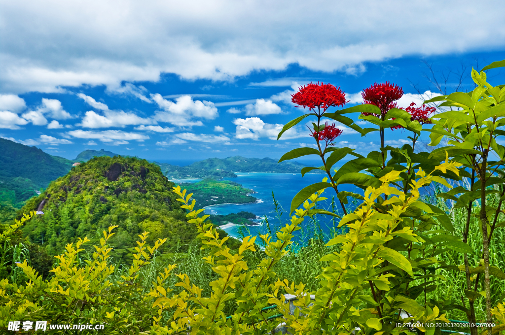
[[[263,122],[260,118],[235,119],[236,125],[235,138],[257,140],[260,137],[268,137],[271,140],[277,140],[277,135],[282,130],[281,124],[269,124]],[[293,127],[286,131],[281,139],[287,140],[298,137],[307,137],[307,133],[299,133],[297,128]]]

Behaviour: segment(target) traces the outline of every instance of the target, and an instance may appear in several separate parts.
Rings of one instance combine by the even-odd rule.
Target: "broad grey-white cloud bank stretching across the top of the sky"
[[[302,1],[90,0],[62,10],[56,0],[29,6],[9,2],[0,13],[9,28],[2,33],[0,90],[122,87],[124,81],[159,81],[162,73],[229,80],[294,63],[359,74],[365,62],[503,46],[502,11],[476,16],[471,2],[437,5],[434,10],[421,0],[401,6],[371,0],[326,0],[317,6]],[[487,7],[502,8],[502,2],[490,0]]]

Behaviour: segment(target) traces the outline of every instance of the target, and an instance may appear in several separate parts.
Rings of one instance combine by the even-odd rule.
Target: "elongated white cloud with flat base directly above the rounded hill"
[[[134,113],[126,113],[123,110],[104,110],[104,115],[99,115],[93,110],[86,111],[80,126],[84,128],[110,128],[129,125],[153,124],[154,120],[141,118]]]

